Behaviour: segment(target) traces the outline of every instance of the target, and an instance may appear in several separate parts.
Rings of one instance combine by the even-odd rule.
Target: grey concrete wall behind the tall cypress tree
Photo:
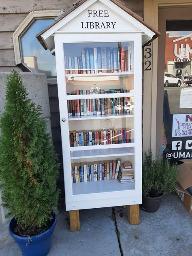
[[[5,102],[6,87],[4,80],[10,73],[0,73],[0,117],[2,116]],[[28,97],[36,105],[42,106],[42,118],[47,121],[47,132],[51,134],[49,95],[47,88],[47,77],[45,74],[20,73],[23,83],[26,87]],[[0,191],[1,196],[1,191]],[[1,202],[1,201],[0,201]],[[6,222],[4,215],[5,209],[0,206],[0,223]]]

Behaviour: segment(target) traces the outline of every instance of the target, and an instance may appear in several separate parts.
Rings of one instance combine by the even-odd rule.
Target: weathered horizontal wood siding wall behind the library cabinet
[[[10,71],[13,68],[19,70],[15,65],[12,34],[30,11],[59,9],[64,11],[70,8],[73,5],[73,2],[75,2],[75,0],[0,1],[0,72]],[[121,2],[123,2],[130,10],[143,17],[143,0],[121,0]],[[53,144],[59,155],[59,161],[61,163],[58,186],[61,189],[60,197],[64,198],[64,177],[57,85],[49,85],[48,90]]]

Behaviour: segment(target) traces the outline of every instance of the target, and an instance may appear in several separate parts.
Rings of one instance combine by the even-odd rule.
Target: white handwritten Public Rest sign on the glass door
[[[192,136],[192,114],[173,115],[172,137]]]

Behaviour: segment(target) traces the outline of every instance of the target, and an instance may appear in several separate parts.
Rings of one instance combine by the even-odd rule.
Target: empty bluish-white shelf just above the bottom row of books
[[[90,146],[91,147],[91,146]],[[134,155],[134,147],[71,151],[71,159]]]

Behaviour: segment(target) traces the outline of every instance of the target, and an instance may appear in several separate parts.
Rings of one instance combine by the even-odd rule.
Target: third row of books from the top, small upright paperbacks
[[[115,130],[70,131],[70,147],[122,144],[131,142],[130,128]]]

